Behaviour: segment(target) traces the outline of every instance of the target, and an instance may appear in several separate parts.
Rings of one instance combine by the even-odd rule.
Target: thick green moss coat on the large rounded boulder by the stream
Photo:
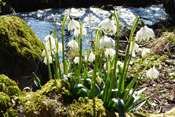
[[[42,60],[42,42],[33,30],[19,17],[0,17],[0,69],[2,73],[14,71],[20,64],[22,70]],[[19,66],[18,66],[19,67]],[[11,69],[9,69],[11,68]]]

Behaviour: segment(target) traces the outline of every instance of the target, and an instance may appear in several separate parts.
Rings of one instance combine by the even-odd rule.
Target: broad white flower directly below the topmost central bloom
[[[107,37],[107,36],[103,36],[98,44],[97,44],[97,47],[98,49],[103,49],[103,48],[110,48],[110,47],[113,47],[115,45],[115,41],[110,38],[110,37]]]

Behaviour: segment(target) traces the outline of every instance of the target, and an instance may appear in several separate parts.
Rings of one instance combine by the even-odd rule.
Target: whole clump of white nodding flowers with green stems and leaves
[[[111,21],[112,18],[115,24]],[[52,78],[50,63],[53,63],[54,78],[65,79],[67,77],[66,80],[70,82],[72,87],[70,91],[74,97],[98,97],[108,109],[119,112],[120,116],[124,116],[125,112],[136,111],[138,107],[141,107],[145,103],[146,99],[153,96],[151,95],[141,99],[136,92],[138,84],[149,65],[148,62],[140,75],[141,63],[149,55],[149,49],[142,50],[142,60],[140,61],[139,68],[131,82],[125,86],[130,60],[132,57],[136,57],[135,53],[139,50],[139,45],[135,42],[146,41],[154,37],[153,30],[145,26],[139,17],[136,17],[133,23],[124,61],[120,61],[118,56],[120,35],[119,16],[116,11],[108,19],[99,23],[99,28],[96,30],[94,37],[94,49],[89,49],[85,56],[82,52],[82,38],[83,35],[87,35],[87,31],[83,27],[81,20],[78,22],[69,16],[68,30],[74,31],[74,38],[68,42],[68,46],[78,51],[77,56],[69,60],[65,59],[64,54],[64,27],[66,19],[67,16],[63,18],[62,43],[59,43],[56,39],[55,30],[54,38],[49,35],[45,39],[46,43],[44,44],[45,50],[43,51],[43,56],[46,58],[44,59],[44,63],[48,65],[50,78]],[[136,37],[134,37],[135,29],[140,21],[142,28],[136,33]],[[110,32],[116,34],[117,40],[109,37]],[[63,57],[61,65],[59,63],[59,52],[62,53]],[[150,68],[146,74],[150,78],[157,78],[159,75],[154,67]]]

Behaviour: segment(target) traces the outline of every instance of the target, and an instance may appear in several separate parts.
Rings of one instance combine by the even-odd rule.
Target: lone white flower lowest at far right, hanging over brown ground
[[[157,78],[159,76],[159,72],[155,69],[155,67],[152,67],[146,72],[146,75],[149,78]]]

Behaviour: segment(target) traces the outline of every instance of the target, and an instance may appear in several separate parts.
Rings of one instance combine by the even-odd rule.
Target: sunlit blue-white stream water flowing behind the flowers
[[[145,24],[153,25],[160,20],[165,20],[167,14],[163,10],[163,5],[152,5],[145,8],[124,8],[116,6],[114,9],[119,14],[120,23],[131,27],[136,16],[145,22]],[[57,38],[61,41],[62,20],[64,15],[70,15],[75,20],[81,20],[84,27],[87,29],[88,36],[83,36],[83,49],[88,49],[90,45],[88,40],[94,38],[94,27],[97,27],[100,21],[109,17],[113,10],[106,11],[100,8],[61,8],[61,9],[44,9],[34,12],[23,12],[10,14],[22,18],[35,32],[36,36],[43,41],[45,36],[50,34],[55,28]],[[65,43],[73,39],[73,31],[67,31],[67,20],[65,26]]]

